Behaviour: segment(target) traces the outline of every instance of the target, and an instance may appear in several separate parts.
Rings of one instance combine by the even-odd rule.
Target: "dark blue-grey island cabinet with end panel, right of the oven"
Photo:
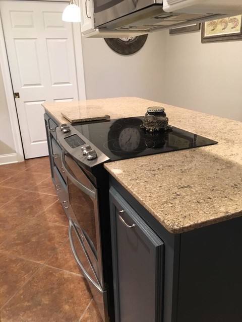
[[[110,187],[115,322],[241,322],[242,217],[172,234]]]

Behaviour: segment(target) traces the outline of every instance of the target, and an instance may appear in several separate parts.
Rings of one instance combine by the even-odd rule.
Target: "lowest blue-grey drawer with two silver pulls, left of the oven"
[[[59,201],[61,201],[61,204],[63,206],[63,209],[69,218],[70,213],[69,213],[69,194],[67,190],[67,185],[64,182],[61,174],[59,174],[58,169],[56,166],[53,168],[53,181],[54,181],[54,186],[55,190],[57,191],[57,195],[59,198]]]

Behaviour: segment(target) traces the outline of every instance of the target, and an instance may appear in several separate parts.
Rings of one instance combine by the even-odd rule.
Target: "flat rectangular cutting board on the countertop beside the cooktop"
[[[73,110],[68,111],[65,113],[62,113],[62,116],[65,117],[69,122],[71,123],[77,123],[77,122],[87,122],[87,121],[97,121],[97,120],[108,120],[110,119],[110,115],[98,112],[98,111],[92,111],[92,110]]]

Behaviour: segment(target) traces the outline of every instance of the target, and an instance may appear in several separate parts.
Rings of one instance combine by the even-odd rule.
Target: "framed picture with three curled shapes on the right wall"
[[[202,23],[202,43],[242,39],[242,15]]]

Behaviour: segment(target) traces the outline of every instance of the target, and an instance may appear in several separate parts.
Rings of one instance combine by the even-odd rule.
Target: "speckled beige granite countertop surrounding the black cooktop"
[[[130,97],[43,106],[63,123],[64,110],[93,104],[112,119],[163,106],[169,124],[219,142],[104,165],[168,231],[181,233],[242,215],[241,122]]]

